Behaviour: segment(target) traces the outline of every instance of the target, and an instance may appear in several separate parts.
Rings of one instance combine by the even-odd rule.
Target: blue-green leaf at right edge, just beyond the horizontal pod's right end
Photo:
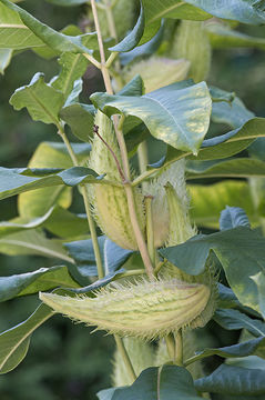
[[[252,319],[239,312],[232,309],[218,309],[215,311],[214,320],[221,327],[228,330],[246,329],[254,337],[264,337],[265,338],[265,323],[257,319]]]

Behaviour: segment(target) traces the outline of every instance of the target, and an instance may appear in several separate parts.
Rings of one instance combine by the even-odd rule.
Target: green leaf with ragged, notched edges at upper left
[[[10,99],[16,110],[27,108],[34,121],[59,124],[59,111],[64,103],[62,92],[44,82],[43,73],[35,73],[30,84],[19,88]]]

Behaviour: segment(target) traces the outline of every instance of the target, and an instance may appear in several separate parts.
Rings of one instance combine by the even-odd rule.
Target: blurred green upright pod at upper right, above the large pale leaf
[[[181,21],[171,54],[191,62],[188,77],[195,82],[205,80],[211,68],[211,44],[204,23]]]

